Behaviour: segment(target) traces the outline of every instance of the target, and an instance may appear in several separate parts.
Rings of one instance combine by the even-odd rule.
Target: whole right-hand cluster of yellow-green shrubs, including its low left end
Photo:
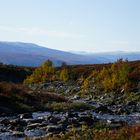
[[[88,89],[92,83],[93,86],[100,88],[100,90],[103,89],[106,92],[127,91],[131,83],[129,73],[130,70],[127,61],[120,59],[113,63],[111,67],[94,70],[93,73],[84,80],[82,88]]]

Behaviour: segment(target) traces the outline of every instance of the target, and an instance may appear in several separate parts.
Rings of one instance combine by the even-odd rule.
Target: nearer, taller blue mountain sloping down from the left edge
[[[55,65],[99,63],[98,60],[85,59],[84,56],[49,49],[32,43],[0,42],[0,62],[5,64],[38,66],[50,59]]]

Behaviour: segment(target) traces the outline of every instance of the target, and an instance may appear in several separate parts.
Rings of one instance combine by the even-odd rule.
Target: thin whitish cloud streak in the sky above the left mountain
[[[49,37],[57,37],[57,38],[82,38],[83,37],[83,35],[77,33],[48,30],[43,28],[0,26],[0,31],[22,33],[22,34],[32,35],[32,36],[49,36]]]

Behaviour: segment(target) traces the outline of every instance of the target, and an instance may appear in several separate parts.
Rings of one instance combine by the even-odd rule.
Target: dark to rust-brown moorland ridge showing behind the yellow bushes
[[[77,78],[81,75],[85,77],[92,73],[93,70],[101,70],[103,67],[109,67],[112,63],[108,64],[80,64],[80,65],[68,65],[67,68],[70,73],[73,73]],[[136,77],[140,80],[140,60],[128,62],[131,69],[132,77]],[[56,67],[56,70],[60,70],[61,67]],[[31,75],[35,70],[34,67],[24,67],[15,65],[0,64],[0,81],[22,83],[27,76]]]

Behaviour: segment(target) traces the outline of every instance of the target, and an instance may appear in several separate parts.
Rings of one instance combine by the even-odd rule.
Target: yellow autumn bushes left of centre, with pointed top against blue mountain
[[[27,79],[24,80],[24,83],[32,84],[55,80],[62,80],[65,82],[68,81],[69,80],[68,69],[62,66],[60,71],[59,70],[56,71],[55,67],[53,66],[53,62],[47,60],[40,67],[36,68],[35,71],[32,73],[32,75],[30,75],[29,77],[27,77]]]

